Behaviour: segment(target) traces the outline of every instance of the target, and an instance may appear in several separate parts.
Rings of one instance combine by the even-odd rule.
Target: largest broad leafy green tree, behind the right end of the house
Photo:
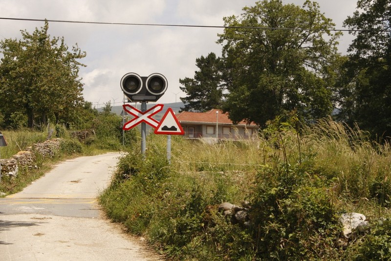
[[[243,11],[224,18],[229,27],[217,42],[228,70],[223,109],[230,118],[262,126],[294,109],[307,120],[331,113],[325,68],[336,57],[340,33],[330,31],[335,25],[319,5],[262,0]]]

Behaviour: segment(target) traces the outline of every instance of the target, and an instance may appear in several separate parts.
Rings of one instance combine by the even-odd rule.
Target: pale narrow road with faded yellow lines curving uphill
[[[0,198],[0,261],[159,260],[105,219],[96,203],[119,156],[66,160],[22,192]]]

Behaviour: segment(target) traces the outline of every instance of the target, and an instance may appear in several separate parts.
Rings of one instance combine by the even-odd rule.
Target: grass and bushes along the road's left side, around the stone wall
[[[58,162],[77,156],[97,155],[105,152],[117,152],[129,150],[138,138],[136,130],[125,133],[124,145],[122,145],[122,117],[110,112],[110,106],[102,112],[95,112],[96,116],[91,121],[89,128],[93,128],[94,135],[87,137],[85,141],[79,141],[72,137],[72,130],[67,130],[62,125],[48,125],[35,130],[21,128],[19,130],[0,130],[4,135],[7,146],[0,147],[1,159],[11,158],[18,152],[25,151],[35,143],[43,142],[50,138],[62,138],[60,149],[52,157],[43,157],[40,153],[34,152],[35,162],[33,168],[20,168],[17,177],[9,177],[2,173],[0,192],[2,196],[10,195],[21,191],[32,181],[43,174]],[[86,127],[88,127],[86,125]]]

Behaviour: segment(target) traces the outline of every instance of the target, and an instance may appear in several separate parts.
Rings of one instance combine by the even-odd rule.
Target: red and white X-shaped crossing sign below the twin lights
[[[124,108],[124,110],[134,116],[133,119],[126,122],[124,124],[124,127],[122,127],[122,129],[125,131],[129,131],[131,128],[142,122],[151,125],[153,128],[156,128],[159,125],[159,122],[153,119],[152,116],[163,109],[163,104],[156,104],[151,109],[146,110],[144,112],[134,108],[129,104],[124,104],[122,107]]]

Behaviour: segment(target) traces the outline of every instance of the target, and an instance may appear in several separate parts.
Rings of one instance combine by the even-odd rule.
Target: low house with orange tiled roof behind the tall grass
[[[244,121],[234,125],[220,109],[207,112],[183,111],[175,115],[188,138],[246,139],[256,134],[259,126]],[[216,131],[217,130],[217,131]]]

